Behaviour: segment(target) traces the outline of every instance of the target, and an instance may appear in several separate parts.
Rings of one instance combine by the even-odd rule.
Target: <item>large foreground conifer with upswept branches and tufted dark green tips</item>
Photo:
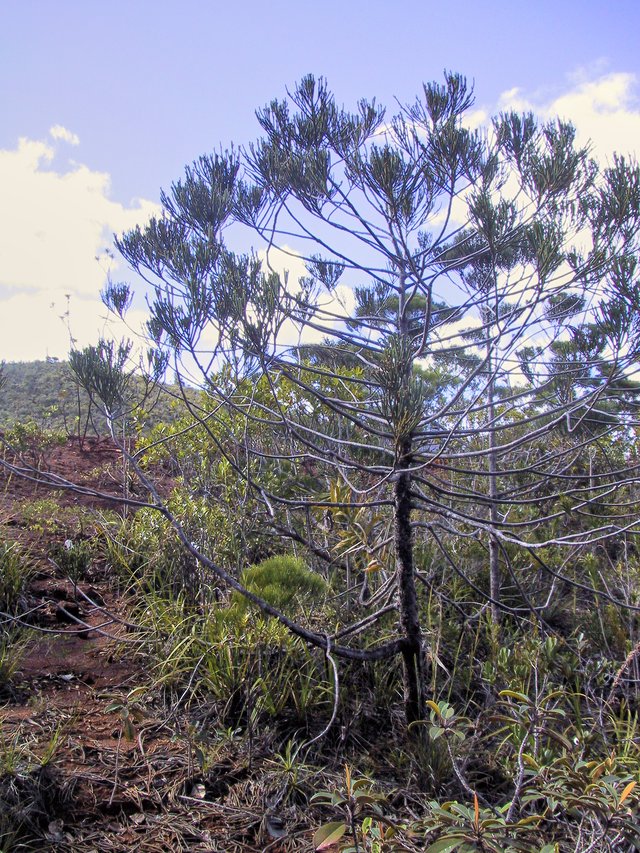
[[[638,531],[635,469],[605,449],[635,411],[638,169],[600,170],[561,121],[472,131],[471,103],[447,74],[393,117],[347,112],[307,77],[258,112],[259,141],[201,157],[117,241],[152,286],[150,337],[200,372],[209,400],[189,405],[218,458],[370,611],[331,635],[254,602],[337,657],[400,655],[409,723],[429,561],[498,623],[542,610],[571,553]],[[524,562],[541,578],[526,589]],[[385,636],[359,646],[377,620]]]

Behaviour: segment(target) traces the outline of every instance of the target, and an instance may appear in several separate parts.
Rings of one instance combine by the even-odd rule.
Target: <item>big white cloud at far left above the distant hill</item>
[[[59,125],[51,137],[76,144]],[[54,169],[55,144],[20,139],[0,150],[0,359],[65,357],[68,335],[59,315],[71,297],[74,335],[94,342],[105,309],[100,289],[113,233],[159,210],[149,201],[113,201],[110,177],[78,163]],[[113,266],[108,262],[109,266]],[[51,307],[51,306],[54,307]]]

